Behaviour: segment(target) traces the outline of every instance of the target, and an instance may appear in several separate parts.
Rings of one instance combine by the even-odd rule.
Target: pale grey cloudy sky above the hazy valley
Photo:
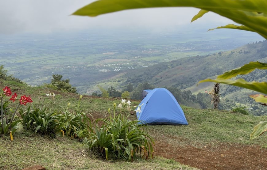
[[[195,8],[135,9],[98,17],[71,16],[75,10],[94,0],[6,0],[0,2],[0,34],[79,31],[98,28],[172,29],[180,25],[215,25],[233,23],[214,13],[190,24],[198,13]],[[210,27],[207,27],[210,28]]]

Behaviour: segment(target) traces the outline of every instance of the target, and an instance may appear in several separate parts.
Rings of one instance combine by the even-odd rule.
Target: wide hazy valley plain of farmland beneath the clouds
[[[177,32],[99,31],[49,35],[1,36],[0,62],[8,74],[30,85],[49,83],[52,74],[69,78],[79,93],[98,81],[161,62],[213,54],[241,46],[256,38],[244,40],[239,32],[218,37],[201,30],[199,37]],[[203,37],[206,37],[203,39]],[[220,42],[220,43],[218,43]],[[230,43],[229,43],[230,42]],[[8,58],[8,60],[6,60]],[[116,67],[118,67],[117,70]],[[17,71],[18,69],[24,72]],[[89,90],[90,91],[90,90]]]

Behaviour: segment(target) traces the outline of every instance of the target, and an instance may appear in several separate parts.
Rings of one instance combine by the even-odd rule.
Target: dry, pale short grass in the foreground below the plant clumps
[[[50,139],[25,131],[18,131],[10,142],[0,137],[0,169],[15,170],[40,164],[47,170],[61,169],[186,169],[176,161],[157,157],[150,160],[135,159],[134,162],[105,161],[93,155],[75,139],[58,137]]]

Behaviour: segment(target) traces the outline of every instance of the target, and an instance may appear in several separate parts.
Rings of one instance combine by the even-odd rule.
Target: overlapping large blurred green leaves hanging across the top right
[[[218,13],[245,28],[259,33],[267,39],[267,1],[266,0],[99,0],[81,9],[73,15],[97,16],[126,9],[156,8],[156,7],[195,7]]]

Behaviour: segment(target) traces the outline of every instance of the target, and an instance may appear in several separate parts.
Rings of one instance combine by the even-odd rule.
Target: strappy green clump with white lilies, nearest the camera
[[[124,99],[118,107],[114,103],[113,115],[109,108],[110,116],[106,119],[96,119],[93,132],[85,137],[84,144],[90,149],[96,149],[106,160],[123,158],[133,161],[138,152],[140,156],[143,153],[143,158],[153,158],[155,139],[147,132],[143,123],[128,119],[130,103],[130,100],[126,102]],[[118,115],[117,108],[120,110]],[[100,127],[99,122],[102,124]]]

